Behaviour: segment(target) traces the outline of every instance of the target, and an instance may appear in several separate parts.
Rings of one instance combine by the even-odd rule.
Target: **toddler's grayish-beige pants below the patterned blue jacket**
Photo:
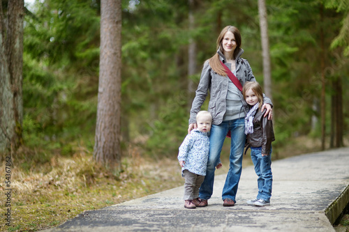
[[[185,178],[184,183],[184,200],[193,200],[199,197],[199,188],[205,179],[205,176],[192,173],[188,170],[183,171]]]

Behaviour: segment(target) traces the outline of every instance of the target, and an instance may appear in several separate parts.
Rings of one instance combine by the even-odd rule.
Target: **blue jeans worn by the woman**
[[[212,125],[209,137],[209,160],[205,180],[200,187],[200,199],[210,199],[214,190],[214,171],[221,157],[223,142],[228,130],[231,132],[230,167],[223,187],[222,199],[235,201],[237,187],[242,173],[242,155],[245,146],[244,118],[223,121],[220,125]],[[236,201],[235,201],[236,202]]]

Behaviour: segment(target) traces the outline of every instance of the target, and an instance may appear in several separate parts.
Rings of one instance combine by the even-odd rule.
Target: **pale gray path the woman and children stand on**
[[[234,207],[222,206],[221,175],[205,208],[184,208],[184,187],[177,187],[85,211],[47,231],[334,231],[332,224],[349,202],[349,148],[277,160],[272,171],[271,206],[264,208],[246,204],[258,191],[253,167],[246,167]]]

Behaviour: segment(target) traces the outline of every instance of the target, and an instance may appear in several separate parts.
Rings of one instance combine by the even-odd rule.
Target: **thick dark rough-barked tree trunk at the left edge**
[[[0,151],[22,144],[22,65],[24,1],[8,1],[3,15],[0,1]]]

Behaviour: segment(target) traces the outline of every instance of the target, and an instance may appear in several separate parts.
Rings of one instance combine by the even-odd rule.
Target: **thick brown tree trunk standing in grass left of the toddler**
[[[101,55],[94,159],[121,167],[121,0],[101,1]]]

